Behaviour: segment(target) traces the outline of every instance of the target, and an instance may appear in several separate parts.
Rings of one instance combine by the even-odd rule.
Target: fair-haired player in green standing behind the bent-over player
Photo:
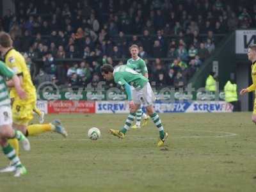
[[[142,74],[144,77],[148,79],[148,69],[147,65],[144,60],[142,60],[138,54],[139,54],[139,47],[138,45],[131,45],[129,48],[129,51],[131,53],[132,58],[127,61],[127,66],[131,67],[136,72]],[[134,87],[131,86],[131,90],[134,90]],[[142,109],[138,109],[136,111],[136,124],[132,126],[133,129],[139,129],[140,128],[140,122],[141,117],[143,118],[143,124],[142,127],[147,125],[149,116],[145,113],[143,113]]]

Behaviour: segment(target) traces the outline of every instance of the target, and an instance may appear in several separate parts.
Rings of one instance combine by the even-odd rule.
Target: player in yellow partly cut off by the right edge
[[[249,46],[247,56],[248,60],[252,61],[252,84],[248,88],[241,90],[240,95],[256,90],[256,44]],[[254,100],[252,121],[256,124],[256,99]]]

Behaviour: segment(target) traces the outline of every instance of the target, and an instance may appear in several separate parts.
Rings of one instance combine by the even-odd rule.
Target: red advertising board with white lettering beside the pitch
[[[87,100],[48,101],[48,113],[95,113],[95,102]]]

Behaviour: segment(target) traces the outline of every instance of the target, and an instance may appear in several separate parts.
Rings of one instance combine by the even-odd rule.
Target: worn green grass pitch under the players
[[[147,127],[120,140],[108,133],[127,115],[48,115],[59,118],[68,138],[31,137],[21,151],[28,175],[0,174],[0,191],[256,191],[256,125],[251,113],[160,114],[169,132],[157,148],[158,131]],[[88,140],[90,127],[102,138]],[[0,154],[0,167],[8,164]]]

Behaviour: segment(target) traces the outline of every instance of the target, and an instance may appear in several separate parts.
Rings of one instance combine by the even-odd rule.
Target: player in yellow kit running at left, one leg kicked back
[[[58,120],[54,120],[51,124],[28,125],[33,119],[33,109],[36,104],[36,89],[31,81],[31,76],[24,57],[13,49],[12,44],[13,42],[10,35],[5,32],[0,32],[1,54],[4,57],[6,65],[12,68],[13,72],[19,76],[22,88],[27,94],[25,100],[19,99],[16,90],[13,88],[13,81],[10,80],[7,82],[8,86],[11,87],[10,95],[13,97],[13,127],[22,131],[25,136],[35,136],[43,132],[54,131],[66,137],[67,132]],[[19,154],[18,141],[10,140],[9,142],[15,148],[17,154]]]

